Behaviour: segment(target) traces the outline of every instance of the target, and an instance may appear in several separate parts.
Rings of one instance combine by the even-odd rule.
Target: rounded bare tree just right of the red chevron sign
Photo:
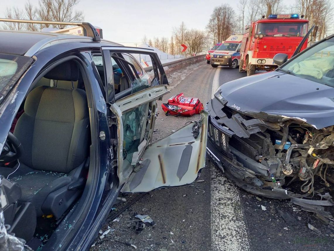
[[[184,34],[184,40],[188,44],[188,54],[190,56],[197,55],[205,47],[205,32],[197,29],[187,30]]]

